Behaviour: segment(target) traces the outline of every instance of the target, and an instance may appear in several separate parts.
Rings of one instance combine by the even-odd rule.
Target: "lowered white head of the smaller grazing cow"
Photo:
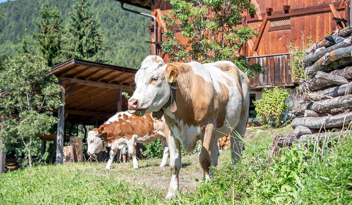
[[[103,138],[101,135],[104,133],[104,126],[100,126],[99,128],[94,128],[92,131],[88,132],[87,137],[87,154],[92,155],[94,153],[99,153],[100,151],[105,151],[105,146],[103,143]]]

